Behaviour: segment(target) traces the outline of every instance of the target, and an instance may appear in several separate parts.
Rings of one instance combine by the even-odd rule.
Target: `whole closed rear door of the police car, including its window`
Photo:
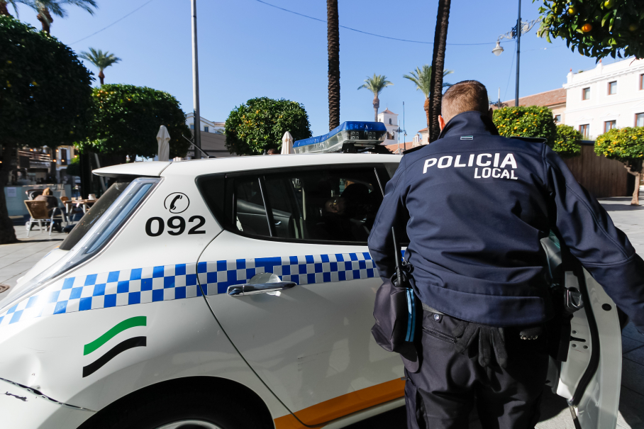
[[[204,295],[250,367],[306,425],[404,394],[399,356],[370,331],[381,282],[366,241],[388,179],[382,165],[197,179],[225,229],[199,258]],[[235,289],[266,282],[282,284]]]

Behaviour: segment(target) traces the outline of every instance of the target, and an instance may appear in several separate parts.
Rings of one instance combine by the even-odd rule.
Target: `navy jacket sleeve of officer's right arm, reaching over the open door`
[[[644,332],[644,261],[604,207],[577,183],[550,147],[545,147],[544,160],[560,238]]]

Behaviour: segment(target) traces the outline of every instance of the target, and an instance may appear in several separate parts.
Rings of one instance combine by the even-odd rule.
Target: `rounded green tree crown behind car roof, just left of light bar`
[[[226,119],[226,147],[238,155],[261,155],[271,147],[281,148],[287,131],[294,140],[311,137],[309,127],[309,115],[296,101],[250,99]]]

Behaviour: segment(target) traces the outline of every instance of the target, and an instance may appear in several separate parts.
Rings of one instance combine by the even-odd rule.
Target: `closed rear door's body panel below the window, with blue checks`
[[[366,247],[269,244],[224,231],[201,255],[199,282],[223,330],[287,408],[296,413],[400,380],[400,358],[382,350],[371,335],[380,280]],[[270,254],[262,250],[269,248]],[[337,255],[348,261],[337,262]],[[333,264],[343,263],[333,271]],[[211,274],[216,264],[226,265],[226,272]],[[226,294],[229,284],[248,282],[258,272],[274,272],[298,285],[279,296]],[[299,274],[286,274],[294,272]],[[217,284],[209,281],[215,279]],[[310,418],[303,423],[320,423]]]

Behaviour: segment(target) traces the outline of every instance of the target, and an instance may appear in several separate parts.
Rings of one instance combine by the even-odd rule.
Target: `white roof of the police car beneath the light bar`
[[[210,158],[179,162],[130,162],[95,169],[94,174],[105,177],[177,175],[200,176],[220,172],[238,172],[256,169],[299,167],[308,165],[371,164],[400,162],[401,155],[366,153],[314,153],[305,155],[257,155],[251,157]]]

